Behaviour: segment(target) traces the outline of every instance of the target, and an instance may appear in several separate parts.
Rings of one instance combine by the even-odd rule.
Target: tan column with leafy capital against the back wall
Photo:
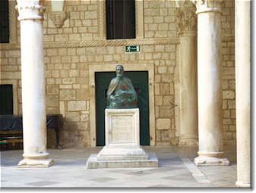
[[[197,16],[194,8],[177,8],[176,24],[180,36],[179,145],[198,145]]]

